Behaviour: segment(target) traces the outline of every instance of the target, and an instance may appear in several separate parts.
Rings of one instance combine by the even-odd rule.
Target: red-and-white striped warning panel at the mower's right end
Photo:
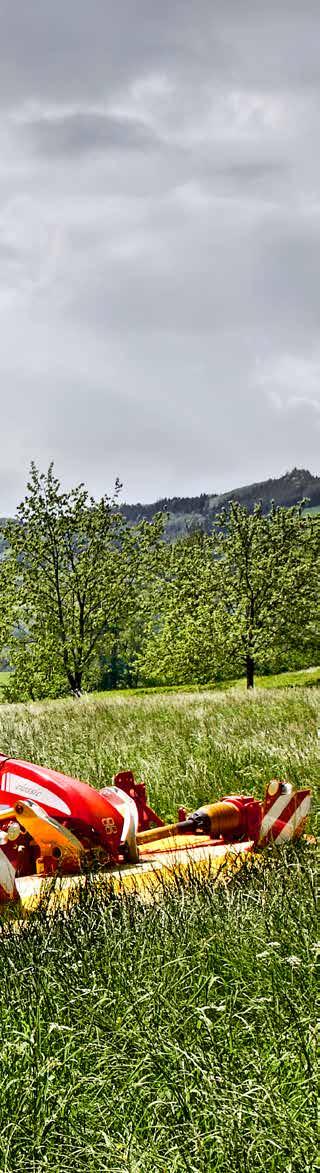
[[[263,811],[259,846],[273,840],[288,843],[302,834],[311,808],[311,791],[294,791],[290,782],[270,782]]]

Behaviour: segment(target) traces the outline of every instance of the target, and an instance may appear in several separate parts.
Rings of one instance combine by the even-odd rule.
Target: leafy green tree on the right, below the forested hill
[[[199,683],[316,659],[320,524],[302,507],[231,504],[212,535],[168,545],[150,598],[141,667],[155,683]]]

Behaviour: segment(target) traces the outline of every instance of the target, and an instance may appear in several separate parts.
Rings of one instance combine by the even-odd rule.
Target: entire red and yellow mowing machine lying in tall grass
[[[220,867],[301,835],[311,791],[272,780],[260,802],[232,794],[164,825],[131,771],[96,791],[54,769],[0,754],[0,903],[39,902],[48,877],[108,872],[121,886],[148,888],[151,879],[195,865]],[[132,881],[134,877],[134,881]],[[59,881],[60,882],[60,881]],[[61,880],[63,883],[63,881]]]

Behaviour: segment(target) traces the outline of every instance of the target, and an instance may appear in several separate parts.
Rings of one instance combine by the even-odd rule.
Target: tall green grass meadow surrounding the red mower
[[[0,708],[4,752],[96,786],[131,766],[164,818],[278,774],[312,785],[314,830],[319,727],[318,689]],[[316,1169],[315,854],[4,920],[4,1173]]]

